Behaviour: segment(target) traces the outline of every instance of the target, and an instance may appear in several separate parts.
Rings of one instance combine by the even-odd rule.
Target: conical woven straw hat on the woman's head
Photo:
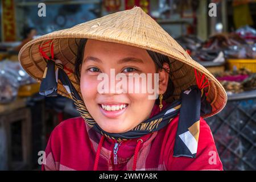
[[[196,85],[195,68],[197,72],[203,73],[210,83],[207,100],[212,105],[212,113],[204,117],[218,113],[226,105],[226,92],[220,82],[207,69],[194,61],[154,19],[136,6],[131,10],[102,16],[31,40],[20,49],[20,64],[30,76],[41,81],[46,61],[39,53],[39,46],[52,40],[55,57],[62,60],[65,67],[74,70],[77,46],[81,38],[126,44],[168,56],[175,89],[173,96],[168,98],[167,102],[179,98],[182,90]],[[75,75],[69,74],[69,79],[81,96],[80,83],[76,82]],[[61,82],[58,83],[58,93],[70,98]]]

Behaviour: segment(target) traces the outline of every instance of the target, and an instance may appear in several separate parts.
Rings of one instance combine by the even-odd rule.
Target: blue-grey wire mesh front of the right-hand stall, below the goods
[[[224,110],[207,118],[225,170],[254,170],[256,90],[228,96]]]

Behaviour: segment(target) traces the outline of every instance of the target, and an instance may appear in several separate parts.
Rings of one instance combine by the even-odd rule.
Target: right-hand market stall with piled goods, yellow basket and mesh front
[[[256,169],[255,28],[241,26],[236,31],[213,34],[205,41],[191,35],[177,41],[213,73],[228,94],[224,110],[206,119],[224,169]]]

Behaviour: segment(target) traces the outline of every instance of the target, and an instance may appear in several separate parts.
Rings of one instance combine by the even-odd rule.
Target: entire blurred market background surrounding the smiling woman
[[[40,17],[42,2],[46,16]],[[225,109],[206,119],[224,169],[256,169],[255,0],[2,0],[0,170],[40,169],[39,151],[52,129],[79,116],[68,98],[38,94],[39,84],[20,67],[19,49],[36,36],[133,6],[142,7],[226,89]]]

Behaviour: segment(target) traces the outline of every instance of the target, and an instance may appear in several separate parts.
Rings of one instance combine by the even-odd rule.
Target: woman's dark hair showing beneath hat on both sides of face
[[[77,56],[76,56],[76,61],[75,61],[75,78],[77,80],[77,82],[80,82],[80,68],[82,65],[82,60],[84,59],[84,48],[85,48],[85,44],[87,42],[87,39],[80,39],[78,48],[77,48]],[[156,69],[164,69],[166,72],[169,73],[169,79],[168,79],[168,86],[167,86],[167,90],[166,92],[163,94],[163,99],[167,99],[170,96],[172,96],[172,94],[174,93],[174,83],[171,80],[171,73],[163,68],[163,64],[167,63],[170,67],[170,61],[168,56],[166,55],[162,55],[161,53],[158,52],[154,52],[154,51],[149,51],[147,50],[148,55],[150,55],[150,57],[152,58],[152,60],[155,62],[156,65]],[[171,67],[170,67],[171,68]]]

